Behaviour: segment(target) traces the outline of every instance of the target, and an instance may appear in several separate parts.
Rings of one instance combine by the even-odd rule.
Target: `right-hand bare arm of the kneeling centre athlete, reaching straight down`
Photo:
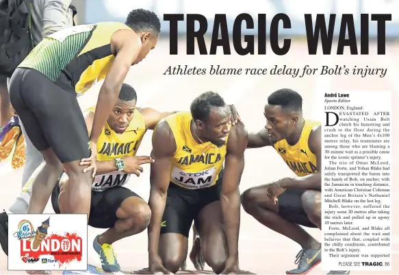
[[[224,166],[220,204],[224,226],[226,227],[229,258],[238,256],[238,235],[240,232],[240,180],[244,171],[244,151],[248,143],[248,133],[239,121],[231,128],[227,141],[227,154]]]

